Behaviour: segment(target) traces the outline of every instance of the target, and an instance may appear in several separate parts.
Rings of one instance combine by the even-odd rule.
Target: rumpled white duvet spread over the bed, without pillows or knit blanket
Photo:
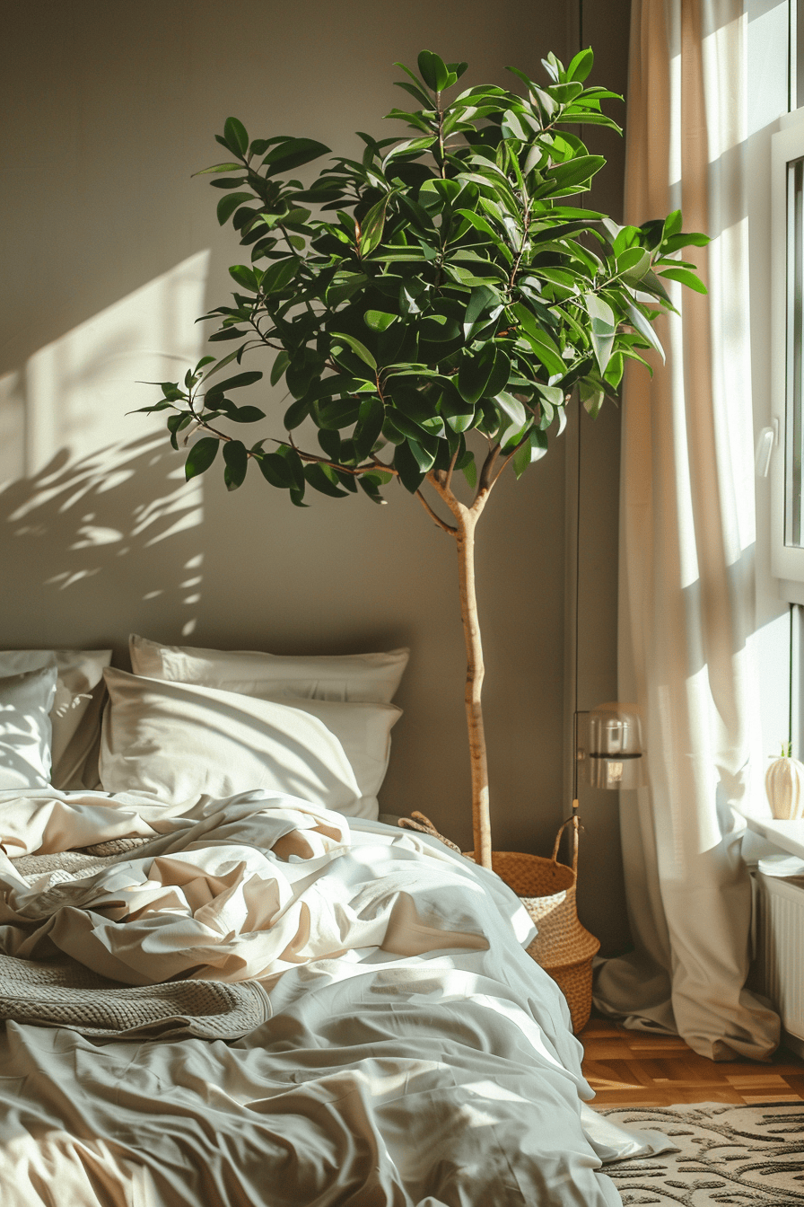
[[[13,858],[154,841],[93,876]],[[2,1207],[615,1207],[553,981],[498,877],[292,797],[0,793],[0,950],[129,985],[254,979],[224,1044],[8,1022]]]

